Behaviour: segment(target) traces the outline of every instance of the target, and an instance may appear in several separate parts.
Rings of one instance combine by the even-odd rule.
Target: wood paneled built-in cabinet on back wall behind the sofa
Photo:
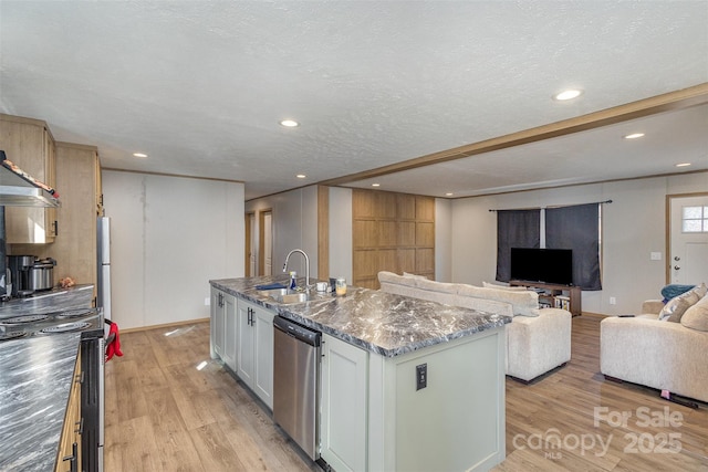
[[[378,289],[379,271],[435,279],[435,199],[352,191],[353,285]]]

